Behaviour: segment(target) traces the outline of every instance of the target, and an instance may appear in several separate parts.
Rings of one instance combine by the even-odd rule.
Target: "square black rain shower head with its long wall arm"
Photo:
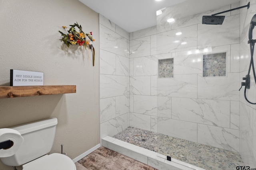
[[[211,16],[203,16],[202,24],[221,25],[224,21],[225,16],[217,16],[218,14],[223,14],[226,12],[238,10],[238,9],[245,8],[245,7],[247,7],[247,9],[248,9],[250,7],[250,2],[248,2],[248,4],[245,6],[241,6],[238,8],[231,9],[231,10],[219,12],[217,14],[212,14]]]

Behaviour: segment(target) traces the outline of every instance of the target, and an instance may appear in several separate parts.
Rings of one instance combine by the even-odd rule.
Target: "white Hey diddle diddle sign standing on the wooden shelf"
[[[44,72],[10,70],[10,86],[43,86]]]

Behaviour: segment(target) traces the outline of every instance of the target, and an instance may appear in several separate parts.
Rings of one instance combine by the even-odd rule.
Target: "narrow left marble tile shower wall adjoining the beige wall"
[[[100,137],[129,126],[129,33],[100,15]],[[149,90],[150,91],[150,90]]]

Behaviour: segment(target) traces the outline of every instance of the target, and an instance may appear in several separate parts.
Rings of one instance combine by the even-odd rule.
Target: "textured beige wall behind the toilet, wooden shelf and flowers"
[[[62,25],[74,22],[96,39],[95,66],[89,51],[67,49]],[[51,152],[74,159],[99,144],[98,14],[78,0],[0,0],[0,86],[10,69],[44,72],[44,85],[76,85],[75,94],[0,99],[0,128],[57,117]],[[12,170],[0,162],[0,170]]]

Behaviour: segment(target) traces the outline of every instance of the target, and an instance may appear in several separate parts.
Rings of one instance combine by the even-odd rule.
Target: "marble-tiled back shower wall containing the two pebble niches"
[[[130,126],[240,151],[240,13],[228,12],[222,25],[201,23],[203,15],[238,6],[170,24],[166,17],[180,9],[172,6],[158,16],[156,27],[130,33]],[[203,77],[203,55],[222,52],[226,76]],[[158,59],[170,58],[174,78],[158,78]]]

